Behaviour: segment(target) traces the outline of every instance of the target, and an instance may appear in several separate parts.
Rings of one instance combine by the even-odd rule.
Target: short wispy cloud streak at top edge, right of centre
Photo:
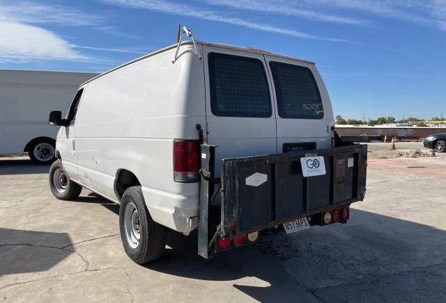
[[[252,10],[256,12],[273,13],[278,15],[287,15],[294,17],[302,17],[318,22],[331,22],[337,24],[355,24],[355,25],[369,25],[367,20],[337,16],[331,14],[325,14],[315,10],[308,10],[300,8],[297,3],[292,1],[272,0],[268,5],[260,0],[203,0],[204,3],[208,3],[214,6],[228,6],[230,8],[236,8],[241,10]]]

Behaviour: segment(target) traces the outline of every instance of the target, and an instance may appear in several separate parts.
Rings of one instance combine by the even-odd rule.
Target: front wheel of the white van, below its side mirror
[[[72,200],[79,197],[82,186],[73,182],[63,170],[62,161],[55,161],[49,167],[49,188],[59,200]]]

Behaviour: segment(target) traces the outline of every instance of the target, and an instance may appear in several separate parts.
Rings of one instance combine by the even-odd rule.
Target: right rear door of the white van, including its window
[[[265,56],[277,104],[277,152],[331,147],[333,114],[312,63]]]

